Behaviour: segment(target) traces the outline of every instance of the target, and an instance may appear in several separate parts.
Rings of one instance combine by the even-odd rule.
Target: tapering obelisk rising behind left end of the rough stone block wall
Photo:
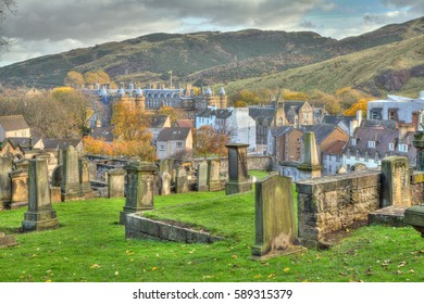
[[[303,163],[298,168],[302,179],[321,177],[320,159],[314,132],[304,134]]]

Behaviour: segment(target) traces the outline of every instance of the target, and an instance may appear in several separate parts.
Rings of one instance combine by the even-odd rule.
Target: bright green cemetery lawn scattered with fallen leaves
[[[264,176],[254,172],[253,175]],[[61,227],[17,233],[0,249],[0,281],[424,281],[424,239],[410,227],[363,227],[326,251],[252,261],[254,192],[155,197],[147,216],[227,238],[213,244],[125,240],[124,199],[53,204]],[[0,213],[0,231],[21,228],[25,208]]]

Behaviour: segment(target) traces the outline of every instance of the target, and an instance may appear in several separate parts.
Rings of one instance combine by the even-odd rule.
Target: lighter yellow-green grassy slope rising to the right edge
[[[394,91],[416,97],[424,89],[424,35],[225,86],[228,93],[242,88],[276,87],[333,93],[344,87],[353,87],[375,97]]]

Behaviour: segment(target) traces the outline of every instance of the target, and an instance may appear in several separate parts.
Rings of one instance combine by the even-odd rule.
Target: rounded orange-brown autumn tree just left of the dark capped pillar
[[[216,134],[210,125],[201,126],[194,132],[194,152],[197,155],[203,155],[207,159],[208,154],[225,154],[227,136]]]

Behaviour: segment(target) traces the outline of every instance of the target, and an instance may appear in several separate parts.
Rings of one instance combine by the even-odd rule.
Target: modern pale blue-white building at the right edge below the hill
[[[400,96],[387,96],[385,100],[373,100],[367,103],[367,118],[377,121],[396,121],[413,123],[413,113],[424,110],[424,91],[416,99]]]

